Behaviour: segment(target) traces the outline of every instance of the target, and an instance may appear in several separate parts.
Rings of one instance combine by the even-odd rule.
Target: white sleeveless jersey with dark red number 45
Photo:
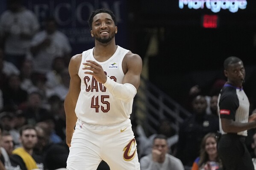
[[[88,124],[118,124],[124,122],[132,113],[132,102],[124,102],[115,98],[103,84],[97,82],[92,75],[82,70],[86,60],[99,63],[105,74],[117,83],[122,83],[124,72],[122,61],[129,50],[118,46],[114,55],[107,61],[98,62],[94,59],[93,49],[82,53],[82,62],[78,75],[81,78],[81,92],[75,109],[77,118]]]

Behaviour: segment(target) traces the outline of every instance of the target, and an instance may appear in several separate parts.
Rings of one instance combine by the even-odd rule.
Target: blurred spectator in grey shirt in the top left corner
[[[18,69],[26,58],[32,37],[40,25],[35,14],[22,5],[22,0],[8,0],[8,10],[0,16],[0,38],[6,60]],[[1,35],[1,34],[0,34]]]

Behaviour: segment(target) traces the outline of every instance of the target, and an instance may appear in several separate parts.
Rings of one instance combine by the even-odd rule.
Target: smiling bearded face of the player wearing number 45
[[[99,13],[93,17],[91,36],[100,43],[109,43],[117,33],[112,17],[107,13]]]

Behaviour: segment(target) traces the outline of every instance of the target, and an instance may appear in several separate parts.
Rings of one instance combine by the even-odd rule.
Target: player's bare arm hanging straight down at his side
[[[66,95],[64,108],[66,113],[66,143],[71,147],[71,138],[74,133],[74,127],[77,122],[75,108],[80,93],[81,79],[78,76],[79,66],[82,60],[82,54],[74,55],[68,66],[70,75],[70,85]]]

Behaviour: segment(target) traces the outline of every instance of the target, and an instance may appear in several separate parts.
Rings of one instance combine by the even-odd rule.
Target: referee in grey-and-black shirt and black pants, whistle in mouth
[[[256,127],[256,114],[249,116],[249,100],[244,93],[245,70],[240,58],[224,61],[227,83],[218,97],[221,137],[218,154],[223,170],[254,170],[252,158],[244,143],[247,130]]]

